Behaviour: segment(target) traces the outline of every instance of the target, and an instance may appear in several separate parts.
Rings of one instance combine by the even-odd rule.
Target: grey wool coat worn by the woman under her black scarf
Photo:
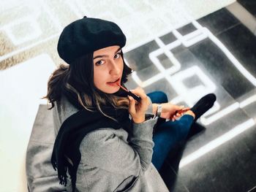
[[[151,114],[151,106],[147,114]],[[49,113],[45,108],[39,108],[27,150],[28,188],[30,191],[72,191],[70,180],[67,188],[59,185],[57,172],[50,164],[50,155],[61,124],[77,110],[65,98],[56,103],[56,107],[50,110],[51,114],[44,115]],[[45,122],[46,118],[48,122]],[[105,127],[87,134],[80,145],[77,190],[168,191],[151,164],[152,132],[156,122],[157,118],[149,118],[143,123],[133,123],[129,133],[123,128]]]

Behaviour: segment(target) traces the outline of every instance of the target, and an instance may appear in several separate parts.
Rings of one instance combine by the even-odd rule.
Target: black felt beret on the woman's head
[[[98,18],[75,20],[61,32],[58,42],[59,56],[71,64],[76,58],[104,47],[124,47],[126,37],[116,23]]]

